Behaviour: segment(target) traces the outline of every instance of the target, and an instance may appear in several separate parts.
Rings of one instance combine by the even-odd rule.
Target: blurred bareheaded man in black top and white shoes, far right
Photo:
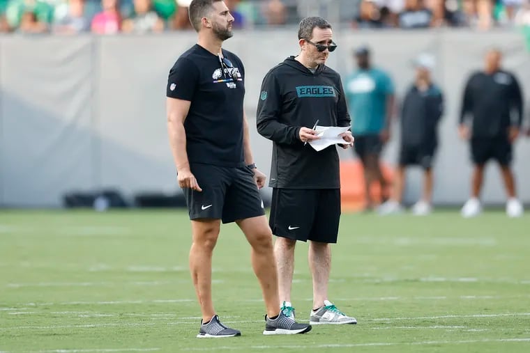
[[[474,217],[482,210],[480,190],[484,167],[490,159],[496,160],[501,167],[508,194],[506,214],[520,217],[524,212],[517,199],[515,178],[510,168],[512,146],[522,125],[523,99],[517,78],[501,68],[501,59],[499,49],[488,51],[485,70],[471,74],[464,89],[459,133],[462,139],[470,140],[474,170],[471,198],[462,207],[463,217]]]

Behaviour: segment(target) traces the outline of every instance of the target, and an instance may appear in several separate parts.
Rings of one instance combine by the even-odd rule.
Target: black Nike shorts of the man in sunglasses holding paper
[[[273,234],[292,240],[336,243],[340,221],[340,189],[273,189]]]

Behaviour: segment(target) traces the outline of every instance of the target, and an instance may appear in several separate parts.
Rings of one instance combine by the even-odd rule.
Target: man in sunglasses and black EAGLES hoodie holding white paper
[[[257,107],[257,130],[273,141],[273,200],[269,224],[275,242],[282,312],[294,319],[291,285],[297,240],[309,244],[313,277],[313,324],[355,324],[328,300],[330,244],[337,242],[340,219],[339,157],[335,146],[320,152],[307,141],[318,139],[315,125],[350,125],[340,76],[326,58],[337,47],[331,25],[320,17],[298,26],[301,52],[266,74]],[[350,132],[341,134],[348,148]]]

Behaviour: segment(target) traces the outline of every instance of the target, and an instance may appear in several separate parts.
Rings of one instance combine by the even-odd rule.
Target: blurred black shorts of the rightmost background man
[[[508,136],[471,138],[471,159],[474,164],[482,165],[495,159],[501,166],[508,166],[512,157],[512,144],[508,141]]]

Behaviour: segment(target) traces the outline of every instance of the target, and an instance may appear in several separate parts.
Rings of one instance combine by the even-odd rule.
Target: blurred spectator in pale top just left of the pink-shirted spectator
[[[85,0],[69,0],[66,12],[54,13],[53,31],[61,34],[75,34],[90,30],[90,21],[84,13]]]

